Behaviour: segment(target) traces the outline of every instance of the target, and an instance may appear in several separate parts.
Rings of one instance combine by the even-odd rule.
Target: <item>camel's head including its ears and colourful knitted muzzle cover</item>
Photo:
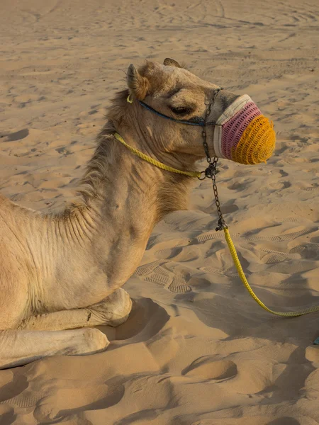
[[[205,157],[203,126],[191,125],[203,120],[211,157],[257,164],[272,154],[272,123],[249,96],[220,90],[172,59],[131,64],[127,75],[130,125],[164,162],[185,167]]]

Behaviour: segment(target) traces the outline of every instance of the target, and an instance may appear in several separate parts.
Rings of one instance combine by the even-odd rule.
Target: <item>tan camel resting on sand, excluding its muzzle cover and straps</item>
[[[94,327],[128,319],[132,300],[121,286],[156,223],[187,208],[193,179],[142,161],[114,134],[168,166],[194,169],[205,156],[201,128],[164,120],[139,101],[189,120],[205,116],[218,86],[171,59],[131,64],[127,84],[108,109],[74,203],[43,214],[0,196],[0,368],[106,350],[108,339]],[[237,97],[220,92],[208,118]],[[213,156],[213,125],[206,132]]]

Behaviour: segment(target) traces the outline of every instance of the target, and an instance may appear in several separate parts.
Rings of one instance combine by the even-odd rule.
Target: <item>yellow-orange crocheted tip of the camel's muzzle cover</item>
[[[272,156],[276,144],[274,124],[264,115],[258,115],[242,133],[232,150],[232,159],[240,164],[260,164]]]

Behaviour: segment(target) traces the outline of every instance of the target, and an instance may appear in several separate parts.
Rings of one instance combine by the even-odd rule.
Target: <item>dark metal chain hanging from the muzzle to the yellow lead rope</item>
[[[214,96],[213,99],[211,99],[211,101],[209,102],[206,114],[205,114],[205,125],[203,125],[203,131],[202,131],[202,136],[203,136],[203,148],[205,150],[205,154],[206,154],[206,161],[208,162],[208,167],[206,168],[205,171],[203,171],[204,177],[203,178],[199,178],[200,180],[203,179],[211,179],[212,183],[213,183],[213,192],[214,192],[214,196],[215,196],[215,203],[216,203],[216,208],[217,208],[217,212],[218,212],[218,227],[216,227],[216,232],[218,232],[218,230],[223,230],[223,229],[227,229],[227,225],[225,223],[225,220],[223,218],[223,212],[221,212],[220,210],[220,201],[218,198],[218,190],[217,190],[217,184],[216,184],[216,174],[217,174],[217,162],[218,162],[218,157],[214,157],[213,158],[213,162],[211,159],[211,155],[209,154],[209,149],[208,149],[208,143],[206,141],[206,121],[208,116],[211,114],[211,108],[213,106],[213,103],[215,101],[216,96],[218,95],[218,93],[220,92],[220,90],[223,90],[222,88],[220,89],[216,89],[216,91],[214,92]]]

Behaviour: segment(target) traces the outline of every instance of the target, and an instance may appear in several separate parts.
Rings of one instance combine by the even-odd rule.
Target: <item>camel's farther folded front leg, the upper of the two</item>
[[[108,324],[118,326],[128,319],[132,300],[128,293],[118,288],[101,302],[77,310],[63,310],[31,316],[18,329],[41,329],[58,331]]]

